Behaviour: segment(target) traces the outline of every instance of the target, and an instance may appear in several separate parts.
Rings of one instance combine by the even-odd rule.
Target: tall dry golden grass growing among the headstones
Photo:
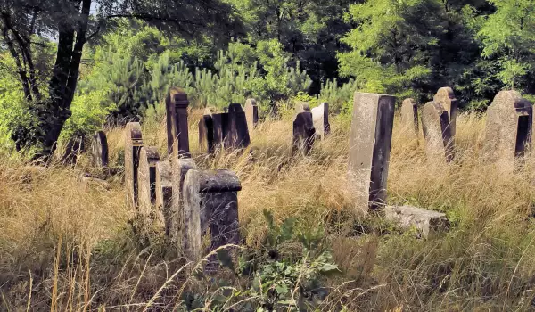
[[[329,280],[322,309],[526,310],[535,293],[533,158],[512,175],[481,160],[485,119],[457,120],[456,160],[426,160],[424,139],[407,138],[396,119],[389,201],[444,211],[448,234],[428,241],[376,218],[355,215],[347,185],[350,119],[309,157],[292,157],[292,117],[266,120],[251,134],[251,152],[199,151],[192,113],[190,141],[200,168],[230,168],[243,185],[240,222],[251,247],[267,232],[263,209],[277,220],[326,229],[343,274]],[[145,144],[166,155],[165,125],[144,125]],[[113,167],[124,160],[123,133],[109,129]],[[0,307],[6,310],[170,309],[184,291],[184,263],[140,247],[128,220],[122,172],[110,185],[83,182],[98,172],[88,157],[74,168],[46,170],[0,162]],[[193,284],[188,284],[193,287]],[[181,293],[181,292],[180,292]],[[149,306],[149,307],[147,307]]]

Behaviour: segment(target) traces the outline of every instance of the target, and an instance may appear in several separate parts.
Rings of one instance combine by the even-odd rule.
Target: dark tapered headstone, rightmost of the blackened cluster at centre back
[[[251,138],[242,105],[238,103],[228,105],[227,120],[225,146],[232,149],[249,146]]]

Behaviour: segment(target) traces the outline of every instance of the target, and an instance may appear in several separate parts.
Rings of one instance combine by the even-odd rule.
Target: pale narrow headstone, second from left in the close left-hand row
[[[137,185],[139,187],[139,213],[150,216],[156,203],[156,163],[160,160],[157,147],[144,146],[139,151]]]

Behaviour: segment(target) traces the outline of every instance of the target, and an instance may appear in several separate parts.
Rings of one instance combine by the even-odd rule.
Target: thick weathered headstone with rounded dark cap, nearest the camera
[[[237,193],[242,185],[229,170],[190,170],[183,186],[186,258],[198,261],[210,250],[226,244],[239,244]],[[210,233],[210,250],[202,249],[202,238]]]

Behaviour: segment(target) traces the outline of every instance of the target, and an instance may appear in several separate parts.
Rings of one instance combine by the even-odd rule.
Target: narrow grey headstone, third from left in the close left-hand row
[[[171,224],[170,211],[173,200],[173,172],[169,161],[156,163],[156,212],[159,224],[165,227],[165,234],[169,237]]]

